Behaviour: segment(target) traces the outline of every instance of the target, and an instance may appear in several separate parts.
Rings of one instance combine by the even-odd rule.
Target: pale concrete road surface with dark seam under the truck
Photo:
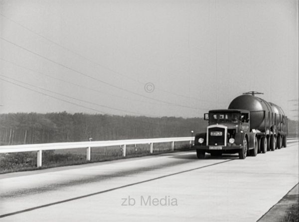
[[[194,151],[0,175],[0,221],[255,222],[299,182],[299,144],[239,160]]]

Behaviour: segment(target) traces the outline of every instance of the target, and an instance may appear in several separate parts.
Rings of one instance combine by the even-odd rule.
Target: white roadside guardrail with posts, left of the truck
[[[37,167],[42,165],[42,151],[53,149],[73,149],[86,147],[86,160],[90,161],[91,147],[121,146],[123,156],[126,156],[126,146],[134,144],[149,144],[149,152],[153,152],[153,143],[171,142],[171,150],[174,150],[174,142],[189,141],[190,144],[194,137],[170,137],[170,138],[152,138],[152,139],[125,139],[125,140],[107,140],[107,141],[84,141],[84,142],[63,142],[63,143],[40,143],[24,145],[0,146],[0,153],[29,152],[37,151]]]

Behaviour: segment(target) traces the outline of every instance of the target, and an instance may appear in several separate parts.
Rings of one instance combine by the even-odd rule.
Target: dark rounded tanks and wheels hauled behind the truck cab
[[[258,152],[287,146],[287,117],[277,105],[253,95],[241,95],[230,103],[228,109],[250,111],[250,131],[257,132]]]

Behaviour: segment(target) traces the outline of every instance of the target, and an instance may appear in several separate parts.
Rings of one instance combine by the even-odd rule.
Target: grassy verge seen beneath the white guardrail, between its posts
[[[174,143],[174,150],[187,150],[190,144]],[[0,154],[0,173],[46,169],[58,166],[78,165],[90,162],[109,161],[121,158],[132,158],[158,153],[171,152],[170,143],[154,143],[153,154],[149,153],[149,144],[128,145],[126,157],[122,156],[120,146],[93,147],[91,161],[86,160],[86,148],[46,150],[42,153],[42,167],[36,167],[36,152],[19,152]]]

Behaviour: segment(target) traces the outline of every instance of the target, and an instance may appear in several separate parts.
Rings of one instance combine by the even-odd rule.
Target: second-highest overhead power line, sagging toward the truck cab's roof
[[[170,103],[170,102],[167,102],[167,101],[163,101],[163,100],[158,100],[158,99],[154,99],[154,98],[151,98],[151,97],[147,97],[147,96],[144,96],[144,95],[139,94],[139,93],[135,93],[135,92],[133,92],[133,91],[130,91],[130,90],[127,90],[127,89],[124,89],[124,88],[115,86],[115,85],[113,85],[113,84],[111,84],[111,83],[108,83],[108,82],[105,82],[105,81],[103,81],[103,80],[97,79],[97,78],[92,77],[92,76],[90,76],[90,75],[87,75],[87,74],[85,74],[85,73],[83,73],[83,72],[80,72],[80,71],[77,71],[77,70],[75,70],[75,69],[73,69],[73,68],[70,68],[70,67],[68,67],[68,66],[66,66],[66,65],[63,65],[63,64],[61,64],[61,63],[58,63],[58,62],[56,62],[56,61],[54,61],[54,60],[52,60],[52,59],[49,59],[49,58],[44,57],[44,56],[42,56],[42,55],[39,55],[38,53],[33,52],[33,51],[29,50],[29,49],[26,49],[26,48],[24,48],[24,47],[22,47],[22,46],[20,46],[20,45],[18,45],[18,44],[16,44],[16,43],[14,43],[14,42],[11,42],[11,41],[9,41],[9,40],[7,40],[7,39],[1,37],[1,36],[0,36],[0,39],[2,39],[2,40],[4,40],[4,41],[6,41],[6,42],[8,42],[8,43],[10,43],[10,44],[12,44],[12,45],[18,47],[18,48],[21,48],[21,49],[23,49],[23,50],[25,50],[25,51],[27,51],[27,52],[30,52],[30,53],[32,53],[33,55],[36,55],[36,56],[38,56],[38,57],[40,57],[40,58],[43,58],[43,59],[45,59],[45,60],[47,60],[47,61],[50,61],[50,62],[52,62],[52,63],[54,63],[54,64],[57,64],[57,65],[59,65],[59,66],[65,68],[65,69],[71,70],[71,71],[73,71],[73,72],[75,72],[75,73],[78,73],[79,75],[88,77],[88,78],[90,78],[90,79],[93,79],[93,80],[95,80],[95,81],[98,81],[98,82],[100,82],[100,83],[103,83],[103,84],[105,84],[105,85],[108,85],[108,86],[110,86],[110,87],[113,87],[113,88],[116,88],[116,89],[119,89],[119,90],[122,90],[122,91],[125,91],[125,92],[128,92],[128,93],[131,93],[131,94],[134,94],[134,95],[137,95],[137,96],[141,96],[141,97],[144,97],[144,98],[147,98],[147,99],[150,99],[150,100],[154,100],[154,101],[162,102],[162,103],[165,103],[165,104],[174,105],[174,106],[177,106],[177,107],[184,107],[184,108],[189,108],[189,109],[193,109],[193,110],[206,110],[206,109],[200,109],[200,108],[194,108],[194,107],[189,107],[189,106],[184,106],[184,105],[174,104],[174,103]]]

